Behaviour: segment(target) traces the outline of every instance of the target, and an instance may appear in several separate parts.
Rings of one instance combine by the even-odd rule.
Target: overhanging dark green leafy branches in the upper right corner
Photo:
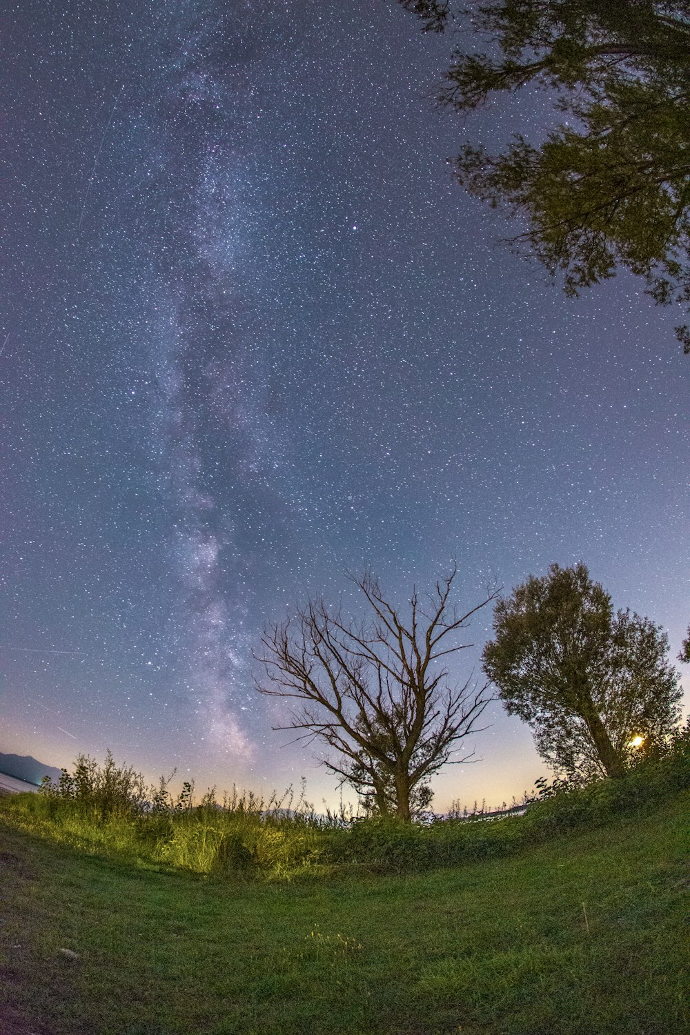
[[[690,0],[399,2],[426,31],[456,18],[486,43],[455,52],[442,103],[464,113],[531,84],[565,116],[537,146],[515,134],[456,159],[472,195],[527,216],[513,244],[572,295],[622,266],[657,302],[690,302]],[[677,334],[690,353],[690,328]]]

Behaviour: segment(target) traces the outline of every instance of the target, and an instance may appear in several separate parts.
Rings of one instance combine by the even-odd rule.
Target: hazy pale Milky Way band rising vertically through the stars
[[[173,40],[157,41],[173,60],[153,108],[160,160],[144,202],[149,297],[160,320],[155,441],[175,516],[171,559],[185,594],[185,682],[212,740],[234,753],[249,746],[237,711],[251,646],[242,589],[253,574],[236,530],[239,486],[249,468],[272,494],[276,463],[253,342],[238,319],[247,303],[241,270],[256,175],[248,11],[192,11],[175,20]]]

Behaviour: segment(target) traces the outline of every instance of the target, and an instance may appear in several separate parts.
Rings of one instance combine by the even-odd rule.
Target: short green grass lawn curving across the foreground
[[[687,814],[280,882],[79,853],[3,799],[0,1033],[681,1035]]]

